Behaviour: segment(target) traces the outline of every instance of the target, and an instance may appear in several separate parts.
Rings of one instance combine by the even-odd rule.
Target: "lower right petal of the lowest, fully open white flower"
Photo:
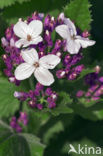
[[[44,86],[50,86],[54,82],[53,75],[49,72],[49,70],[39,67],[35,70],[34,76],[37,81]]]

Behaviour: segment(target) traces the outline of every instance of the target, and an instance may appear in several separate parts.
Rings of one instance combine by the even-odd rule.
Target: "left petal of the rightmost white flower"
[[[70,37],[69,31],[68,31],[68,26],[65,24],[57,26],[55,28],[55,30],[64,39],[67,39],[68,37]]]

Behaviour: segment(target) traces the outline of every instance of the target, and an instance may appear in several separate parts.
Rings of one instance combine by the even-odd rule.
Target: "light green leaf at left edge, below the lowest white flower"
[[[25,82],[25,81],[24,81]],[[0,118],[13,115],[19,108],[19,101],[14,97],[15,91],[27,90],[27,83],[21,83],[20,87],[16,87],[6,78],[0,77]]]

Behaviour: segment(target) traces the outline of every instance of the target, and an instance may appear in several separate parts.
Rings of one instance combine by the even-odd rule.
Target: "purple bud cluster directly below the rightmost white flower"
[[[76,79],[82,70],[85,68],[83,64],[76,65],[83,58],[82,54],[76,54],[74,56],[70,56],[67,54],[63,60],[63,68],[56,72],[56,76],[59,79],[67,78],[68,80]]]

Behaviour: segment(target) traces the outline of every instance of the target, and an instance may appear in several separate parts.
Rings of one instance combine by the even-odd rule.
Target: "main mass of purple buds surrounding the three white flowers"
[[[23,21],[23,19],[19,20]],[[34,12],[32,16],[28,17],[27,21],[25,22],[30,23],[32,20],[40,20],[43,22],[43,41],[38,43],[37,45],[30,45],[29,48],[38,49],[39,57],[51,53],[63,58],[64,54],[62,53],[62,51],[65,51],[66,41],[63,39],[56,39],[55,44],[53,45],[52,33],[55,30],[56,26],[64,23],[64,14],[61,13],[57,17],[57,19],[55,19],[50,15],[47,15],[44,18],[44,14]],[[3,60],[6,65],[4,73],[11,83],[20,85],[20,81],[16,80],[14,76],[14,70],[16,66],[23,63],[23,59],[21,56],[21,49],[15,47],[15,42],[18,41],[19,38],[15,36],[13,27],[14,25],[11,25],[10,28],[7,28],[5,37],[3,37],[1,40],[2,46],[6,52],[3,55]],[[82,36],[88,37],[89,33],[85,31],[82,33]],[[81,59],[82,55],[80,53],[73,56],[67,54],[64,59],[62,59],[62,69],[58,70],[56,73],[57,78],[60,79],[67,77],[68,80],[76,79],[84,69],[84,65],[74,67],[74,65],[76,65]]]

